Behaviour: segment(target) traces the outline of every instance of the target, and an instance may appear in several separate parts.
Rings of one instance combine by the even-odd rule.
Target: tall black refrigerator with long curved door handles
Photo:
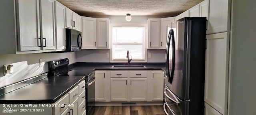
[[[206,17],[185,17],[167,28],[164,111],[204,115]]]

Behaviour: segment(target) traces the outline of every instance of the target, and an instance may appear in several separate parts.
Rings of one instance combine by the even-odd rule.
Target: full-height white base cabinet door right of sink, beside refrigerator
[[[163,101],[164,75],[162,71],[148,71],[148,101]]]

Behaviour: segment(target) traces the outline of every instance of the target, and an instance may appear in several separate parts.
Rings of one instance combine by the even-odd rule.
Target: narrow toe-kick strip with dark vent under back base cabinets
[[[149,106],[149,105],[163,105],[163,101],[153,101],[153,102],[95,102],[95,106]]]

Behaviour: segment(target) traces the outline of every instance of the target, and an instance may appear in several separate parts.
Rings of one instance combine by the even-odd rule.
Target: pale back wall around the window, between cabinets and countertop
[[[163,17],[132,16],[130,22],[125,20],[125,16],[100,16],[94,18],[109,18],[110,24],[147,24],[148,18]],[[110,50],[81,50],[76,52],[76,62],[110,62],[110,58],[106,58],[107,53],[110,54]],[[148,50],[148,53],[152,55],[152,58],[148,58],[148,62],[165,62],[165,50]]]

